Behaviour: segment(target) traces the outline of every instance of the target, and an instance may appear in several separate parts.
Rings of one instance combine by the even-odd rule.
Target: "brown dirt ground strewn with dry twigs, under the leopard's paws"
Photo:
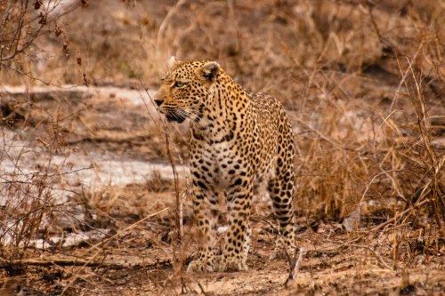
[[[262,226],[260,226],[262,225]],[[268,260],[273,241],[271,228],[265,223],[254,223],[256,232],[251,248],[246,272],[214,273],[209,275],[187,275],[185,268],[172,281],[173,267],[168,246],[150,247],[150,237],[156,233],[135,230],[125,234],[122,242],[131,242],[133,247],[113,248],[104,259],[100,252],[94,267],[39,268],[28,266],[26,280],[20,288],[27,295],[58,295],[67,288],[67,295],[443,295],[445,291],[445,271],[443,257],[429,256],[423,260],[416,256],[412,268],[405,268],[401,261],[398,270],[384,268],[371,252],[361,248],[335,248],[333,245],[354,241],[348,239],[344,230],[333,238],[327,234],[315,234],[305,231],[300,235],[300,242],[307,252],[295,284],[284,284],[289,273],[287,260]],[[319,228],[320,229],[320,228]],[[150,235],[147,235],[150,233]],[[122,243],[121,243],[122,244]],[[191,249],[193,244],[190,244]],[[378,249],[378,248],[377,248]],[[383,247],[381,249],[384,249]],[[320,252],[314,251],[320,250]],[[82,258],[85,248],[79,247],[71,252],[64,252],[66,258]],[[69,256],[68,253],[70,254]],[[143,254],[143,256],[142,256]],[[383,260],[392,266],[392,260],[382,254]],[[54,258],[58,257],[54,255]],[[186,260],[187,261],[187,260]],[[80,272],[79,270],[82,269]],[[81,279],[74,283],[64,278],[69,272],[77,273]],[[70,284],[67,287],[67,284]]]

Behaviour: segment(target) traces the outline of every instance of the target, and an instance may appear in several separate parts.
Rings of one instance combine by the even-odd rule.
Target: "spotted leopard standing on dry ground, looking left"
[[[295,250],[295,142],[279,100],[247,92],[216,61],[172,58],[154,97],[166,121],[189,120],[190,195],[197,233],[190,272],[246,271],[252,199],[267,190],[278,220],[275,251]],[[215,251],[220,193],[227,230]],[[271,258],[274,255],[272,254]]]

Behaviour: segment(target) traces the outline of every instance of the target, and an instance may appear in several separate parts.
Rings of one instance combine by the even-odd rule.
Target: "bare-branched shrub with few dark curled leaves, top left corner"
[[[43,82],[39,77],[34,77],[33,72],[39,64],[48,58],[43,47],[39,46],[38,40],[43,36],[64,36],[64,29],[59,26],[64,15],[76,11],[80,7],[79,2],[49,1],[43,3],[41,0],[3,1],[0,4],[0,69],[6,70],[3,78],[23,82],[22,78],[29,77]],[[71,54],[66,39],[61,37],[61,52],[52,51],[53,55],[60,55],[65,59]],[[21,79],[20,79],[21,77]],[[51,82],[45,82],[51,84]]]

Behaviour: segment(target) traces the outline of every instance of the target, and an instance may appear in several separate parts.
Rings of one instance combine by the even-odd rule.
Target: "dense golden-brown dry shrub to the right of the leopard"
[[[365,116],[360,118],[361,108],[346,113],[339,107],[344,102],[331,97],[321,103],[328,105],[320,107],[323,112],[312,111],[298,120],[298,212],[306,217],[340,218],[350,215],[364,197],[362,212],[392,217],[394,210],[401,212],[416,204],[430,189],[433,195],[441,196],[444,149],[432,137],[430,112],[443,111],[428,107],[421,84],[425,76],[418,74],[416,78],[419,89],[411,90],[411,95],[403,99],[410,108],[386,114],[368,109],[368,114],[362,113]],[[345,121],[344,116],[351,118]],[[354,126],[360,122],[364,123],[360,128]],[[441,200],[434,197],[443,212]]]

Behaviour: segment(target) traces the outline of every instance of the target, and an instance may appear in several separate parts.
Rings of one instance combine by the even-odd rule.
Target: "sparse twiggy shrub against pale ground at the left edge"
[[[63,212],[68,196],[77,194],[63,181],[72,165],[68,158],[76,152],[67,146],[69,135],[64,132],[72,116],[56,115],[46,120],[52,126],[47,139],[32,137],[33,132],[24,134],[32,128],[28,116],[7,121],[20,127],[15,132],[1,126],[0,250],[4,260],[21,258],[27,249],[36,252],[36,240],[46,240],[48,231],[57,231],[52,224],[55,215]],[[28,156],[34,155],[33,148],[43,151],[37,167],[28,165]]]

